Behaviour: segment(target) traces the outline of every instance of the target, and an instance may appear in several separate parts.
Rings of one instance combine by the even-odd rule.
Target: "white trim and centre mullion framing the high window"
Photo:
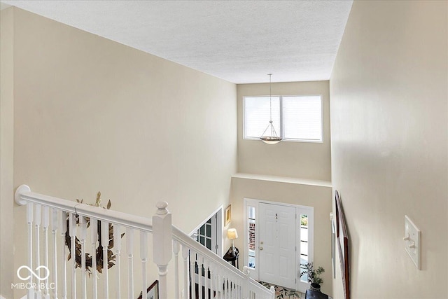
[[[256,137],[246,137],[246,109],[245,109],[245,103],[246,103],[246,97],[269,97],[269,95],[244,95],[243,96],[243,140],[260,140],[260,138]],[[323,95],[319,94],[309,94],[309,95],[271,95],[271,97],[279,97],[280,102],[280,132],[279,135],[283,137],[284,132],[284,123],[283,123],[283,97],[320,97],[321,99],[321,140],[316,139],[282,139],[281,141],[286,142],[306,142],[306,143],[312,143],[312,144],[323,144],[324,137],[324,120],[323,120]]]

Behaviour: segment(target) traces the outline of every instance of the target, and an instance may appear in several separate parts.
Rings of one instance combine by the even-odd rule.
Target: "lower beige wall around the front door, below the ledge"
[[[313,186],[304,183],[281,183],[260,181],[258,179],[232,178],[232,223],[230,227],[237,228],[239,238],[235,246],[239,249],[239,267],[244,266],[244,198],[265,200],[269,202],[284,202],[314,207],[314,263],[325,269],[323,273],[322,291],[332,293],[331,265],[331,187]]]

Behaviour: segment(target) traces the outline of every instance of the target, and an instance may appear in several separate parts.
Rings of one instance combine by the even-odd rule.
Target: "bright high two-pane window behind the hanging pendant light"
[[[322,142],[321,95],[244,97],[244,139],[259,139],[272,123],[283,140]]]

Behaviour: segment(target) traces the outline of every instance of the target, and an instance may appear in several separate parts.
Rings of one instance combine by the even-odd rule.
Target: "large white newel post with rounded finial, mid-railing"
[[[153,216],[153,261],[159,267],[160,299],[167,299],[168,263],[172,258],[172,216],[167,202],[158,202]]]

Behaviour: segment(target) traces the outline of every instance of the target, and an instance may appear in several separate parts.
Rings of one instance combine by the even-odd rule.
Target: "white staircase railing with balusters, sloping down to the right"
[[[121,298],[126,293],[123,298],[135,299],[140,293],[135,289],[146,294],[151,284],[148,281],[148,267],[151,267],[148,237],[152,235],[152,262],[158,267],[158,298],[167,299],[174,293],[175,299],[274,299],[274,288],[265,288],[251,279],[247,267],[244,272],[237,270],[172,225],[172,214],[166,202],[158,202],[158,210],[151,219],[33,193],[26,185],[16,190],[15,201],[27,206],[27,265],[18,269],[18,278],[27,288],[27,298]],[[113,230],[113,239],[110,239],[109,230]],[[138,279],[134,267],[136,231],[140,235],[141,278]],[[126,258],[121,260],[122,232],[125,232],[126,246],[123,247],[127,263]],[[87,235],[90,235],[90,242]],[[57,242],[58,237],[60,242]],[[68,266],[66,242],[73,252]],[[91,275],[86,271],[85,253],[88,251]],[[167,268],[173,253],[174,279],[169,279],[169,283]],[[98,255],[102,256],[101,265],[97,265]],[[114,270],[107,267],[109,257],[115,259]],[[122,265],[127,267],[127,273],[122,271]],[[101,275],[97,266],[102,270]],[[113,286],[109,285],[109,272],[115,274]],[[141,281],[140,286],[135,286],[137,280]]]

